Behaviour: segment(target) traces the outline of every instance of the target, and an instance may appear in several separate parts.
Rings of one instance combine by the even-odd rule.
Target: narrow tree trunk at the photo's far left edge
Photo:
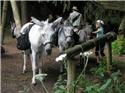
[[[1,2],[0,2],[1,3]],[[7,7],[8,7],[8,1],[3,2],[3,10],[2,10],[2,17],[0,20],[0,35],[1,35],[1,44],[4,43],[4,25],[6,22],[6,15],[7,15]]]

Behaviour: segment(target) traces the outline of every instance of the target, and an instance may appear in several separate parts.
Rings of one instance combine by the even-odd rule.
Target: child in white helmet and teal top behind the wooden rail
[[[93,32],[96,34],[96,38],[101,37],[104,35],[104,28],[103,28],[104,22],[102,20],[97,20],[96,21],[96,31]],[[104,46],[105,46],[105,42],[100,41],[98,42],[98,44],[96,45],[96,49],[95,49],[95,55],[97,58],[97,62],[100,61],[100,57],[104,57]]]

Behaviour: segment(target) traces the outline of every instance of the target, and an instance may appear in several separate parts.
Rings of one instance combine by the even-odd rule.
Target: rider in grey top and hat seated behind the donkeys
[[[78,12],[77,6],[72,7],[72,12],[68,17],[69,23],[74,27],[74,32],[78,32],[83,26],[82,14]]]

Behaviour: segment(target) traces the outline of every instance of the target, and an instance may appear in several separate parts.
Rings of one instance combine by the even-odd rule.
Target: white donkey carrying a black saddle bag
[[[39,24],[35,24],[32,26],[29,32],[29,41],[31,44],[31,61],[32,61],[32,71],[33,71],[33,77],[32,77],[32,84],[35,84],[35,75],[36,75],[36,69],[38,60],[40,59],[40,56],[43,54],[48,55],[51,54],[52,51],[52,40],[53,35],[56,33],[55,29],[60,24],[62,18],[58,18],[53,23],[48,23],[47,21],[42,21]],[[26,23],[22,29],[21,33],[23,33],[23,30],[26,29],[29,25],[32,23]],[[24,32],[25,33],[25,32]],[[16,35],[16,29],[14,30],[14,33]],[[14,35],[13,35],[14,36]],[[26,71],[26,51],[24,51],[24,66],[23,66],[23,72]],[[41,68],[39,67],[39,73],[41,72]]]

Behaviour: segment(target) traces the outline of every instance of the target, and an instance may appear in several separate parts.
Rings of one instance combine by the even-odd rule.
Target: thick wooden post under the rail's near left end
[[[67,59],[67,93],[73,91],[73,81],[75,80],[75,62]]]

